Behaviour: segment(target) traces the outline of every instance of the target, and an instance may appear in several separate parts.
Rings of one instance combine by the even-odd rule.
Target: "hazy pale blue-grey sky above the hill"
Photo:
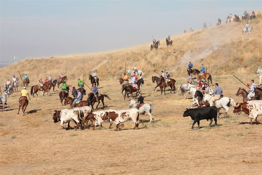
[[[262,8],[261,0],[0,2],[0,63],[143,44]]]

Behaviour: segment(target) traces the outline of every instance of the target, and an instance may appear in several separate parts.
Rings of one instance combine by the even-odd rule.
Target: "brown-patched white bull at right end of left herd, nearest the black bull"
[[[105,118],[109,118],[116,124],[116,131],[118,131],[120,123],[132,120],[135,124],[134,129],[138,128],[139,111],[136,108],[111,111],[105,113]],[[111,128],[112,122],[109,128]]]

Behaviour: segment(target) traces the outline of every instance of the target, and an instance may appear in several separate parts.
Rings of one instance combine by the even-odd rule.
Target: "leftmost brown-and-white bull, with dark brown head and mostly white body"
[[[79,120],[83,120],[84,113],[79,108],[74,109],[62,109],[60,111],[55,110],[52,112],[54,123],[61,121],[61,127],[63,124],[66,124],[66,130],[70,129],[70,121],[73,120],[77,124],[77,128],[79,128],[80,122]],[[82,126],[82,125],[81,125]],[[64,128],[64,127],[63,127]]]

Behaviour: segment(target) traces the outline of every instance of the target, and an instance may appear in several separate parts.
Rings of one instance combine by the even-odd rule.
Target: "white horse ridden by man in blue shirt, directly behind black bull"
[[[206,95],[204,95],[203,102],[208,101],[210,106],[214,106],[212,98],[213,97],[211,95],[206,94]],[[226,111],[226,114],[227,114],[227,112],[229,110],[228,107],[231,107],[231,108],[234,109],[235,106],[236,106],[236,102],[229,97],[222,97],[221,99],[215,101],[215,105],[218,109],[218,114],[219,114],[219,109],[221,109],[221,108],[224,108],[224,110]]]

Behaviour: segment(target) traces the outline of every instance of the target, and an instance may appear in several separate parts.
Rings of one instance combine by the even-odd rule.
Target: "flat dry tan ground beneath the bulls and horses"
[[[176,88],[184,83],[175,79]],[[250,79],[259,78],[249,75],[242,79],[249,83]],[[40,92],[36,98],[30,95],[26,114],[17,115],[20,93],[15,92],[7,101],[11,111],[4,113],[0,109],[0,173],[261,174],[262,125],[249,125],[246,114],[235,115],[230,108],[227,117],[220,110],[218,126],[208,127],[209,121],[201,120],[201,128],[197,129],[196,124],[191,130],[193,121],[183,118],[182,111],[190,108],[192,99],[178,100],[177,93],[169,94],[170,91],[160,95],[159,88],[153,91],[156,84],[151,78],[145,80],[141,92],[148,96],[145,99],[153,100],[154,122],[149,123],[147,114],[141,115],[138,130],[132,129],[134,124],[125,122],[118,132],[115,125],[108,129],[107,121],[95,131],[61,129],[60,122],[53,122],[51,112],[70,106],[61,106],[57,87],[50,96],[40,96]],[[223,88],[224,96],[242,101],[235,94],[244,85],[232,75],[214,76],[215,82]],[[118,80],[100,81],[99,92],[111,98],[105,99],[105,109],[128,109],[128,101],[119,98],[120,88]],[[96,111],[101,110],[102,104],[98,107]],[[71,122],[71,126],[75,124]]]

